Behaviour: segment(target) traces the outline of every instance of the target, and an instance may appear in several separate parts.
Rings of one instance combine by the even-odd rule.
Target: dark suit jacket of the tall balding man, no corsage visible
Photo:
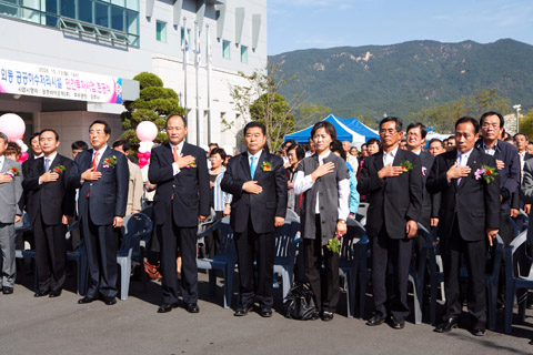
[[[197,168],[183,168],[174,175],[170,143],[164,142],[152,150],[148,180],[158,185],[152,215],[157,224],[163,224],[172,204],[175,225],[193,227],[198,225],[199,215],[209,215],[211,211],[209,172],[203,149],[183,143],[181,153],[183,156],[193,155]]]

